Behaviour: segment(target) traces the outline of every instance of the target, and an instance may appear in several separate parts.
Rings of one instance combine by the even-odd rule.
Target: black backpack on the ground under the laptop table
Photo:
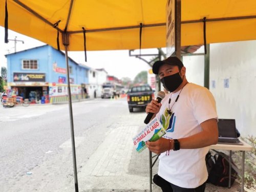
[[[214,156],[208,152],[206,154],[206,167],[208,171],[207,182],[212,183],[216,186],[228,187],[228,173],[229,173],[229,162],[224,157],[228,156],[224,153],[218,152]],[[233,165],[234,163],[231,162]],[[231,167],[231,185],[236,180],[238,173]]]

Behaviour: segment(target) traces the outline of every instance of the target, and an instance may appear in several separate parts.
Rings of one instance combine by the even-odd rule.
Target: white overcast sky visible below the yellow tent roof
[[[0,27],[0,68],[7,67],[5,54],[14,52],[14,41],[4,43],[4,28]],[[13,32],[9,30],[9,39],[23,40],[24,44],[17,41],[16,52],[45,45],[45,43],[28,36]],[[138,50],[136,50],[137,53]],[[164,50],[165,51],[165,50]],[[141,51],[142,54],[158,53],[157,49],[146,49]],[[130,57],[129,50],[119,51],[88,51],[87,62],[84,61],[84,52],[69,52],[69,56],[78,63],[83,63],[91,68],[104,68],[109,75],[114,75],[121,79],[122,77],[130,77],[132,80],[141,71],[148,71],[150,66],[138,58]],[[146,60],[151,60],[152,57],[143,57]]]

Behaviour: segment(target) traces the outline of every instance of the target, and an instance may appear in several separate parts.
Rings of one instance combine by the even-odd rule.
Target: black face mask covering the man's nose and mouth
[[[178,73],[175,73],[173,75],[165,76],[161,79],[161,82],[163,83],[163,87],[167,89],[169,92],[173,92],[178,89],[180,84],[182,83],[182,78]]]

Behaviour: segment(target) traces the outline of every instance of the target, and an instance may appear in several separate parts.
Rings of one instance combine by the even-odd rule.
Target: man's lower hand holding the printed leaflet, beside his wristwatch
[[[152,151],[155,154],[161,154],[166,152],[170,149],[173,149],[173,142],[172,140],[160,138],[157,141],[147,141],[146,146],[148,150]]]

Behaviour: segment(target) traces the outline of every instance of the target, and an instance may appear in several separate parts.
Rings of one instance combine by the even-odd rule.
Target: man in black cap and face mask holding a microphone
[[[187,81],[177,57],[155,62],[153,73],[170,92],[161,103],[152,100],[146,107],[166,130],[164,138],[146,142],[150,151],[161,154],[154,182],[164,192],[204,191],[207,146],[218,142],[215,99],[208,89]]]

